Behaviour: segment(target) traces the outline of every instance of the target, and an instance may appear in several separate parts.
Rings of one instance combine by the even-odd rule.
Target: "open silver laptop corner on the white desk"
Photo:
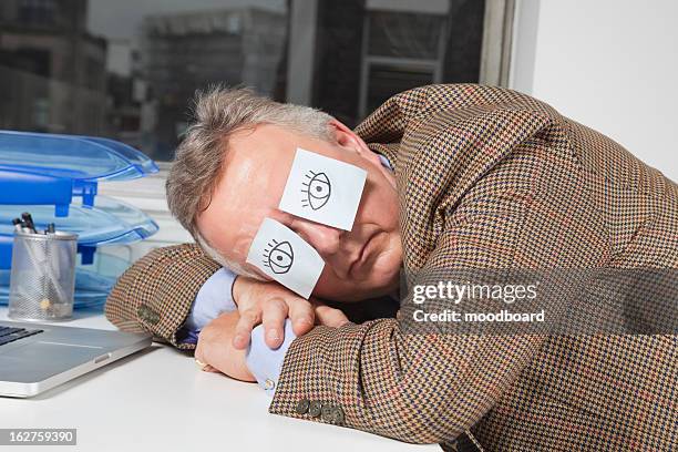
[[[150,335],[0,321],[0,396],[39,394],[148,346]]]

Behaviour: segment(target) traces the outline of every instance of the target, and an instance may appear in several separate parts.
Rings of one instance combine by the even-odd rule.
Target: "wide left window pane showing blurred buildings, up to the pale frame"
[[[3,0],[0,127],[171,160],[196,90],[274,95],[287,27],[285,0]]]

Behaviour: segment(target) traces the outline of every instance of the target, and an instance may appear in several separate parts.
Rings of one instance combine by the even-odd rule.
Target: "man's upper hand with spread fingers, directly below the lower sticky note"
[[[315,323],[340,327],[349,321],[339,309],[301,298],[278,282],[238,276],[233,286],[233,298],[240,314],[233,337],[233,347],[237,350],[247,348],[251,329],[258,323],[264,323],[266,345],[277,348],[285,339],[284,326],[288,317],[297,336],[307,333]]]

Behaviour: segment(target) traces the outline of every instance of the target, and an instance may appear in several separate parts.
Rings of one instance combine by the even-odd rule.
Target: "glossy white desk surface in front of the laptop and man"
[[[59,325],[115,328],[95,312],[75,317]],[[0,319],[7,320],[6,307]],[[0,428],[74,428],[78,445],[55,448],[74,451],[440,451],[436,444],[273,415],[269,402],[256,384],[202,372],[193,359],[154,343],[34,398],[0,398]]]

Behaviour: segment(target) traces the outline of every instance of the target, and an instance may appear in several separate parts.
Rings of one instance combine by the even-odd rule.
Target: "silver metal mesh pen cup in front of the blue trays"
[[[73,315],[78,235],[16,233],[8,316],[64,320]]]

